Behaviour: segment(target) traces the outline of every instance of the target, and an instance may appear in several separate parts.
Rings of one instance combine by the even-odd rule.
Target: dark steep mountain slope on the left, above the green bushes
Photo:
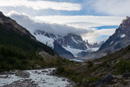
[[[12,45],[25,50],[43,50],[51,55],[54,51],[46,45],[38,42],[29,31],[20,26],[15,20],[0,12],[0,44]]]

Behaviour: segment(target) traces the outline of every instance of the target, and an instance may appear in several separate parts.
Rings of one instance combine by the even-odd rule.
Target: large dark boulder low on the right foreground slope
[[[107,75],[104,79],[99,79],[98,81],[96,81],[96,86],[102,85],[104,83],[108,83],[111,82],[114,79],[113,75]]]

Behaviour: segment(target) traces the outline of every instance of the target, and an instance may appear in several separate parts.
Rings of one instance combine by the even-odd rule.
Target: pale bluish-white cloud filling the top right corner
[[[87,5],[88,6],[88,5]],[[92,0],[91,10],[115,16],[130,15],[130,0]]]

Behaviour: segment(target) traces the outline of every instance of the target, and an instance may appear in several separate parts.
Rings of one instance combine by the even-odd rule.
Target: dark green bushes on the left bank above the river
[[[35,51],[0,45],[0,71],[32,69],[37,65],[44,67],[44,60]]]

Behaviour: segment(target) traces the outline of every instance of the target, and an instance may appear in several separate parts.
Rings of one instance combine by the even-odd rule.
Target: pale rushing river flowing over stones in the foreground
[[[55,70],[55,68],[26,70],[30,73],[30,77],[26,79],[31,79],[38,87],[73,87],[70,80],[51,75],[53,70]],[[0,75],[0,87],[18,80],[22,81],[25,80],[25,78],[17,77],[15,74]]]

